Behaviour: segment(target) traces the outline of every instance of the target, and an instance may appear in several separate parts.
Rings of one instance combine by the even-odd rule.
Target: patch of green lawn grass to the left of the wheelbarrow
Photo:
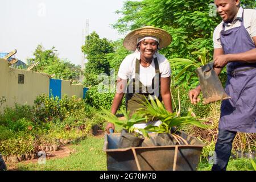
[[[76,153],[63,159],[46,160],[46,164],[18,164],[22,171],[105,171],[106,154],[102,150],[104,138],[89,136],[71,146]]]

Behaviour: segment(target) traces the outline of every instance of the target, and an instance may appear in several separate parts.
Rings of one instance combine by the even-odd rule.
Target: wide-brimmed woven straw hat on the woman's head
[[[123,40],[123,46],[129,51],[135,51],[137,39],[143,36],[155,36],[159,38],[159,48],[167,47],[172,42],[172,36],[161,28],[146,26],[131,31]]]

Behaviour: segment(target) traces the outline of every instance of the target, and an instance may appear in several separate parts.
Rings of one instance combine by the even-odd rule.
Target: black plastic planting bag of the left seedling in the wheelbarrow
[[[127,130],[123,129],[121,131],[118,148],[139,147],[143,140],[143,135],[139,134],[139,137],[135,137],[133,134],[130,134]]]

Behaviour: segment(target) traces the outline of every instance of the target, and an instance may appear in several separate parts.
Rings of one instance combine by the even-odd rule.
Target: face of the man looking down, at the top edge
[[[224,22],[232,22],[238,12],[240,0],[215,0],[217,12]]]

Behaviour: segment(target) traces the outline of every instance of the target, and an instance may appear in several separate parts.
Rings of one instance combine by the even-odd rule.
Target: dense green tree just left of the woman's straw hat
[[[106,59],[106,55],[114,52],[113,46],[106,38],[100,39],[100,36],[94,31],[86,36],[82,52],[84,52],[88,59],[88,62],[85,64],[84,84],[86,86],[97,85],[99,83],[97,76],[100,73],[110,74],[109,61]]]

